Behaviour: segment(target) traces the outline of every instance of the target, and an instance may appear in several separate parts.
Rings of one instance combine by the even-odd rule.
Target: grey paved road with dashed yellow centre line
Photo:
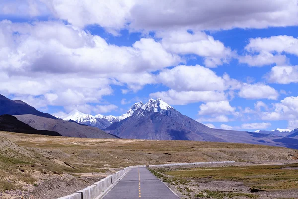
[[[144,168],[131,169],[103,199],[179,199]]]

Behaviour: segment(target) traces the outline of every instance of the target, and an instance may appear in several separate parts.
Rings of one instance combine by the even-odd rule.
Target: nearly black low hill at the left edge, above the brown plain
[[[50,136],[62,136],[57,132],[48,130],[36,130],[19,121],[12,115],[1,115],[0,116],[0,131],[8,131],[15,133],[26,133],[26,134],[39,134],[39,135],[50,135]]]

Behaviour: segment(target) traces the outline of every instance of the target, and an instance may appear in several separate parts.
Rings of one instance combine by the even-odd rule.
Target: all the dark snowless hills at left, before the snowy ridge
[[[118,138],[95,127],[57,119],[23,101],[13,101],[3,95],[0,95],[0,115],[2,115],[0,117],[2,131],[68,137]]]

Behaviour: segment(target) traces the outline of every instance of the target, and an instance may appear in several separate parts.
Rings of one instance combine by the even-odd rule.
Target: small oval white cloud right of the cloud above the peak
[[[239,96],[246,99],[270,99],[277,100],[279,94],[278,92],[265,84],[256,83],[256,84],[246,84],[244,83],[242,88],[239,91]]]

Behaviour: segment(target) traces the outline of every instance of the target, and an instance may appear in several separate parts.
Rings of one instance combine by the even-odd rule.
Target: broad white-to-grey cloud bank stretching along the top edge
[[[51,12],[56,18],[84,27],[97,24],[113,34],[168,28],[221,30],[285,27],[298,24],[297,0],[29,0],[2,3],[1,13],[32,16]],[[43,2],[48,9],[37,10]],[[23,6],[20,6],[20,3]],[[38,3],[38,6],[36,4]],[[12,4],[12,6],[10,5]],[[214,6],[217,5],[217,6]],[[17,7],[17,9],[14,9]],[[20,9],[22,8],[22,9]]]

